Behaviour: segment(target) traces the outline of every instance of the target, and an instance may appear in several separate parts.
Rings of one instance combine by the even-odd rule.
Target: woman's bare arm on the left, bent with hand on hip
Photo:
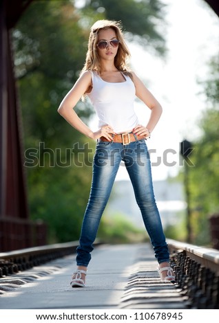
[[[74,87],[67,93],[59,105],[58,112],[71,124],[76,130],[83,133],[91,139],[98,139],[103,136],[112,140],[110,133],[114,133],[111,126],[103,126],[96,132],[93,132],[74,111],[74,107],[81,99],[81,96],[92,86],[92,78],[90,71],[85,71],[80,78],[76,81]]]

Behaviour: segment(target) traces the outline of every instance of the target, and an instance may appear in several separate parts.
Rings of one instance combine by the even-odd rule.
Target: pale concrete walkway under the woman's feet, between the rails
[[[0,280],[0,309],[185,309],[180,291],[161,282],[149,244],[101,245],[86,287],[72,289],[75,255]]]

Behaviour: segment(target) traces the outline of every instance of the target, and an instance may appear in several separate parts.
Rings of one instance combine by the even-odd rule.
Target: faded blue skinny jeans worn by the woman
[[[169,262],[169,250],[160,221],[160,214],[154,198],[152,171],[145,140],[136,140],[127,145],[116,142],[98,142],[93,160],[92,186],[87,203],[76,264],[85,266],[90,262],[92,243],[96,238],[98,225],[110,197],[110,192],[121,161],[132,181],[136,202],[158,263]]]

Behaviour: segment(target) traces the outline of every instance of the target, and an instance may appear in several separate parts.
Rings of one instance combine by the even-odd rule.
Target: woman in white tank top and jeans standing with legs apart
[[[97,140],[90,198],[77,247],[77,269],[72,276],[72,287],[85,286],[92,243],[122,160],[132,181],[136,201],[154,247],[160,278],[174,280],[160,214],[154,199],[149,153],[145,143],[160,119],[162,107],[136,74],[129,71],[127,58],[129,49],[125,44],[120,23],[96,21],[91,27],[81,76],[58,109],[75,129]],[[90,98],[96,110],[99,126],[97,131],[92,131],[84,124],[72,109],[85,95]],[[136,96],[151,110],[146,126],[139,124],[134,112]]]

